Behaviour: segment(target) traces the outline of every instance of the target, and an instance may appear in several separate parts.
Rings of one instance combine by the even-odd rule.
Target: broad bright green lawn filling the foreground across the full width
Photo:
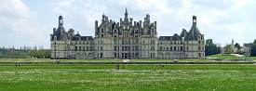
[[[44,65],[1,66],[0,90],[176,90],[256,89],[256,65]]]

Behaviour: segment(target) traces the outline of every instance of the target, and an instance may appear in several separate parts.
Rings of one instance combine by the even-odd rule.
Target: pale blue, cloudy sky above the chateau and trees
[[[50,48],[49,35],[60,15],[66,30],[94,36],[95,20],[105,14],[119,21],[126,8],[136,21],[150,14],[158,36],[189,31],[195,15],[205,39],[242,45],[256,39],[255,5],[255,0],[0,0],[0,46]]]

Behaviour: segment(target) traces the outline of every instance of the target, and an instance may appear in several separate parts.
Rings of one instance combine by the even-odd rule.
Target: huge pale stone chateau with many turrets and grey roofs
[[[102,15],[101,23],[95,21],[95,36],[81,36],[73,29],[65,31],[63,18],[58,28],[50,34],[51,58],[204,58],[204,34],[196,27],[193,16],[189,32],[182,29],[179,35],[157,36],[156,21],[147,14],[143,21],[125,18],[119,22]]]

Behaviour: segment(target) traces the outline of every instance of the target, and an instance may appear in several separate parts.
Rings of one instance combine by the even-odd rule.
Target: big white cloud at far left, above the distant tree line
[[[8,0],[0,4],[0,41],[3,46],[44,45],[45,35],[34,20],[36,12],[20,0]]]

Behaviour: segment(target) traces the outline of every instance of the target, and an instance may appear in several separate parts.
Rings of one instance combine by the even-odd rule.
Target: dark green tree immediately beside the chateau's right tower
[[[222,51],[221,46],[217,46],[217,45],[213,44],[212,39],[206,40],[205,48],[206,48],[206,50],[205,50],[206,56],[220,54]]]

